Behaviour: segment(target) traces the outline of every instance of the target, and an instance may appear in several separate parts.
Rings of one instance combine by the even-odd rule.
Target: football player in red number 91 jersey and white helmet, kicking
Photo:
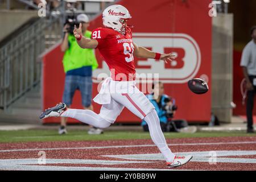
[[[151,139],[166,159],[167,166],[181,166],[189,162],[192,155],[175,156],[171,152],[162,133],[155,107],[135,86],[134,56],[167,62],[174,59],[174,55],[156,53],[137,46],[132,40],[132,27],[126,24],[130,18],[131,15],[125,7],[112,5],[102,13],[105,27],[96,28],[92,33],[92,39],[82,36],[81,24],[79,28],[74,29],[79,46],[98,48],[110,69],[111,77],[104,80],[100,93],[93,99],[94,102],[102,105],[100,113],[96,114],[91,110],[67,109],[64,103],[60,103],[44,111],[40,118],[71,117],[94,127],[106,128],[115,122],[126,107],[147,122]]]

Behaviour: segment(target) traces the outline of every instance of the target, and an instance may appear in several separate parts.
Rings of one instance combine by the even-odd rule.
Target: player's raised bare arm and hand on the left
[[[79,28],[76,28],[76,25],[75,25],[73,34],[76,38],[77,44],[79,44],[81,48],[93,49],[98,46],[97,40],[88,39],[82,36],[82,23],[79,24]]]

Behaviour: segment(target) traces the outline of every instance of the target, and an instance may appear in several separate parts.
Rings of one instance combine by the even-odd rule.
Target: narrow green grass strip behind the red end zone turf
[[[245,131],[232,132],[197,132],[164,133],[166,138],[192,137],[256,137]],[[78,140],[119,140],[150,139],[150,134],[143,131],[105,131],[101,135],[89,135],[86,130],[69,130],[66,135],[57,134],[56,130],[18,130],[0,131],[0,142],[46,142],[46,141],[78,141]]]

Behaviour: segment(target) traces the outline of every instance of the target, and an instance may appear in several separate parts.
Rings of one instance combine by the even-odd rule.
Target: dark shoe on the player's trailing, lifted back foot
[[[57,104],[55,107],[46,109],[41,115],[40,119],[48,117],[59,117],[61,113],[67,110],[67,106],[64,103]]]

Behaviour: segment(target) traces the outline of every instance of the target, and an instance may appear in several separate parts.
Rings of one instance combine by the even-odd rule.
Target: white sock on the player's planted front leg
[[[144,121],[147,122],[151,139],[159,148],[160,152],[163,154],[164,159],[166,159],[167,162],[173,162],[175,155],[167,146],[166,139],[164,138],[163,132],[160,127],[158,114],[156,113],[155,109],[146,115]]]

